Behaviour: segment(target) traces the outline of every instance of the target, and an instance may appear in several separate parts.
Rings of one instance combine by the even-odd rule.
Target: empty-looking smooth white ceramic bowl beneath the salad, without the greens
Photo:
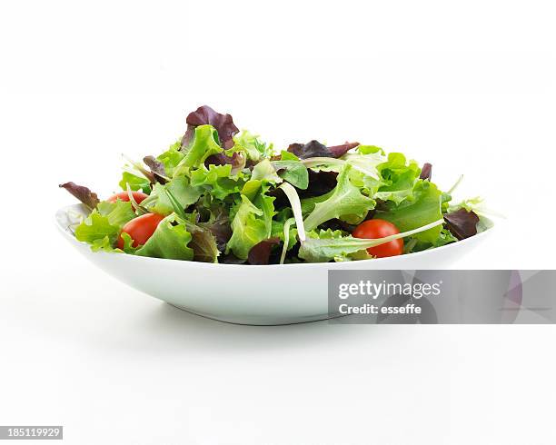
[[[328,271],[443,269],[491,230],[429,251],[358,262],[305,264],[210,264],[92,252],[69,230],[70,213],[84,213],[81,204],[63,207],[56,225],[65,239],[104,272],[134,289],[213,320],[275,325],[325,320],[328,313]],[[491,225],[491,222],[487,220]]]

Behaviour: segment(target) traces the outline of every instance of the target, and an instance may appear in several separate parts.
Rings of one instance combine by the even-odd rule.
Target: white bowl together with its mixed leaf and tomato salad
[[[183,137],[126,158],[120,192],[56,213],[80,252],[134,288],[223,321],[324,319],[333,269],[444,267],[492,222],[478,198],[452,202],[432,164],[375,145],[274,147],[201,106]],[[459,182],[458,182],[459,183]]]

